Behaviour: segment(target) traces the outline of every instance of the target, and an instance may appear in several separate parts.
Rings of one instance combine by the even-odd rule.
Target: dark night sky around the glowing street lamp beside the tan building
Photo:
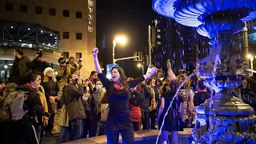
[[[117,46],[115,58],[133,56],[134,51],[147,53],[148,25],[156,18],[150,0],[97,0],[97,46],[102,47],[106,35],[106,48],[100,50],[103,65],[112,62],[112,41],[116,34],[126,34],[126,46]],[[117,62],[128,76],[141,74],[133,59]],[[106,69],[106,67],[104,67]]]

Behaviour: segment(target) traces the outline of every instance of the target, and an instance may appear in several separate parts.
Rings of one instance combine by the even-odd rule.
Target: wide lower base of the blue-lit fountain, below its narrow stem
[[[216,94],[197,108],[197,122],[192,130],[196,143],[256,143],[254,110],[229,90]]]

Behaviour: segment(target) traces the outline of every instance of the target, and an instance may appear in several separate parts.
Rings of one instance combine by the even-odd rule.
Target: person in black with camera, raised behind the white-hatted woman
[[[50,67],[49,63],[42,57],[42,51],[34,54],[34,60],[31,62],[31,69],[33,72],[43,73],[43,71]]]

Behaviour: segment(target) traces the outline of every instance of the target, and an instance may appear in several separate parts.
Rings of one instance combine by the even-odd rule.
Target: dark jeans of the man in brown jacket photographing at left
[[[83,134],[83,119],[73,119],[70,121],[70,140],[75,141],[82,138]]]

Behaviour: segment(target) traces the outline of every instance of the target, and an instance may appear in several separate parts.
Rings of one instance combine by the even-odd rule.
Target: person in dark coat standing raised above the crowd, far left
[[[31,60],[22,49],[17,48],[14,50],[14,63],[10,68],[10,82],[17,83],[18,85],[26,84],[29,79],[31,70]]]

